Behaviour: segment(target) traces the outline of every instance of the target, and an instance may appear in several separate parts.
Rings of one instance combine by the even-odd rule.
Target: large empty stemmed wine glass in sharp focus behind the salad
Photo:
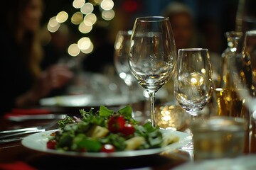
[[[176,67],[176,45],[168,17],[136,18],[129,50],[129,67],[149,94],[151,124],[156,126],[154,102]]]

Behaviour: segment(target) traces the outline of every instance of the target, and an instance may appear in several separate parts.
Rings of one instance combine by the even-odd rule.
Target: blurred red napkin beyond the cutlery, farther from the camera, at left
[[[41,114],[49,114],[50,111],[45,108],[13,108],[11,113],[6,113],[4,118],[9,118],[14,115],[41,115]]]

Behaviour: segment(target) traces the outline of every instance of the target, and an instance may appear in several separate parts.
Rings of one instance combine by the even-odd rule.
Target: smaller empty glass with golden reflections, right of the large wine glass
[[[212,98],[213,86],[208,49],[179,49],[174,95],[181,108],[196,118]]]

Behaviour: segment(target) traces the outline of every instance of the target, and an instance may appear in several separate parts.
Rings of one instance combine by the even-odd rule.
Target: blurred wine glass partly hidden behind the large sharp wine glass
[[[128,55],[131,41],[132,30],[119,30],[114,42],[114,67],[117,70],[117,74],[128,86],[129,100],[131,103],[133,100],[133,87],[137,83],[134,79],[132,72],[129,69]]]

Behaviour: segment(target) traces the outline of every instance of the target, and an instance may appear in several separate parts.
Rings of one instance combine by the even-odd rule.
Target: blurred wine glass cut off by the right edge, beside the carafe
[[[250,132],[250,148],[249,152],[256,152],[256,30],[250,30],[245,33],[244,38],[240,40],[238,50],[231,64],[231,75],[235,85],[242,89],[238,91],[240,98],[244,99],[244,104],[249,109],[249,123],[251,126]],[[248,125],[249,126],[249,125]]]

